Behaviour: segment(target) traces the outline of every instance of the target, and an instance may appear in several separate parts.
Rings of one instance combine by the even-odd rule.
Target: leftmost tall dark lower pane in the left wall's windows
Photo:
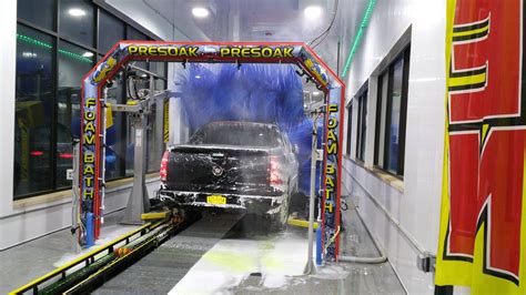
[[[54,111],[54,42],[50,35],[17,27],[14,194],[53,187],[51,118]]]

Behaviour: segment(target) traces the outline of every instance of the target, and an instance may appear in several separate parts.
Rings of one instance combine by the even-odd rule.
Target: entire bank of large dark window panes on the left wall
[[[151,39],[92,1],[18,0],[17,4],[13,195],[21,199],[71,187],[65,171],[72,166],[72,135],[80,129],[74,123],[82,77],[127,34],[134,40]],[[168,72],[164,63],[135,65],[163,77]],[[165,85],[163,80],[155,82],[158,90]],[[107,99],[125,103],[125,93],[122,75],[108,89]],[[133,166],[127,174],[127,161],[133,165],[131,134],[128,116],[113,113],[113,126],[107,131],[107,180],[132,175]],[[152,151],[146,151],[149,171],[159,169],[162,156],[156,146],[160,155]]]

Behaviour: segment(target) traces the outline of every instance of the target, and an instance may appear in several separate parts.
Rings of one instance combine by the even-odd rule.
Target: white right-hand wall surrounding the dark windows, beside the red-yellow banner
[[[351,20],[361,21],[362,14],[358,13],[363,10],[357,7],[366,6],[366,2],[368,1],[355,1],[354,7],[347,7],[354,10],[344,13]],[[345,161],[344,166],[388,210],[399,222],[398,225],[408,232],[417,244],[432,253],[436,253],[437,248],[441,212],[445,122],[445,17],[446,1],[378,0],[346,79],[348,100],[375,70],[380,70],[380,63],[411,27],[404,192],[391,187],[351,161]],[[370,81],[370,90],[373,88],[374,84]],[[376,95],[371,94],[372,101]],[[373,102],[370,102],[368,108],[366,165],[372,165],[375,118]],[[355,122],[353,128],[356,128]],[[353,142],[355,133],[356,130],[353,130]],[[384,244],[409,293],[432,294],[433,275],[417,271],[417,252],[411,243],[360,185],[353,182],[351,175],[344,175],[343,181],[356,196],[370,230]]]

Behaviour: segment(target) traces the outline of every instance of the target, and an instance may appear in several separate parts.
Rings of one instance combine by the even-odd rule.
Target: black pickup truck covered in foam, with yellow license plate
[[[296,149],[275,124],[221,121],[171,145],[159,197],[199,210],[243,210],[281,228],[297,190]]]

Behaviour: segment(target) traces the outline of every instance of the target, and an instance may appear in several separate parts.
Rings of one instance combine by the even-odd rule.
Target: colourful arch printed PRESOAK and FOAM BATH
[[[310,49],[301,42],[161,42],[121,41],[83,78],[81,96],[81,141],[79,163],[79,195],[81,222],[88,222],[85,213],[93,213],[94,238],[100,234],[101,194],[104,175],[101,122],[105,101],[102,88],[130,61],[145,60],[200,63],[292,63],[302,74],[314,81],[326,93],[325,139],[323,161],[323,241],[328,241],[340,226],[340,197],[342,171],[343,112],[345,84]],[[85,228],[85,226],[84,226]],[[327,247],[325,260],[336,260],[340,238]]]

